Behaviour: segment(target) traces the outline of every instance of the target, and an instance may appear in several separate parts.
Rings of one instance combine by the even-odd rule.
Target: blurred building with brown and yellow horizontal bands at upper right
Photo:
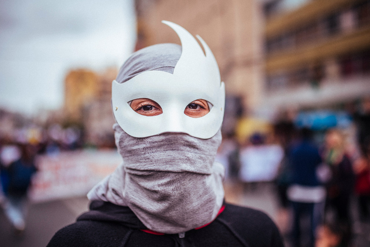
[[[370,1],[265,5],[266,107],[333,107],[370,94]]]

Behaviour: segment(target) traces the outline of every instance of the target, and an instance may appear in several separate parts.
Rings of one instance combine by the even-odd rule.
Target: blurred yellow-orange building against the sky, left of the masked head
[[[85,143],[114,147],[111,90],[116,76],[115,68],[100,74],[85,69],[67,74],[65,111],[68,121],[83,126]]]

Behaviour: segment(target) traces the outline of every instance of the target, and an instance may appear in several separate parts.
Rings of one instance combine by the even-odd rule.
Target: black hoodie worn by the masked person
[[[279,230],[261,211],[232,204],[209,225],[179,234],[153,234],[129,207],[92,201],[90,211],[55,233],[47,247],[242,246],[282,247]]]

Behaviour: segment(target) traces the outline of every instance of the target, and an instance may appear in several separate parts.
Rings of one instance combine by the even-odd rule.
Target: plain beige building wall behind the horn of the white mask
[[[263,96],[263,13],[256,0],[136,0],[137,49],[158,43],[178,43],[176,33],[161,20],[199,34],[218,62],[226,94],[242,96],[249,110]]]

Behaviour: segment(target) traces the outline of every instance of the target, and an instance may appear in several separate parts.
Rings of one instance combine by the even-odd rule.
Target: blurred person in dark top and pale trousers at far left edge
[[[23,231],[27,214],[27,189],[36,171],[36,146],[29,143],[1,149],[1,181],[6,201],[4,212],[17,231]]]

